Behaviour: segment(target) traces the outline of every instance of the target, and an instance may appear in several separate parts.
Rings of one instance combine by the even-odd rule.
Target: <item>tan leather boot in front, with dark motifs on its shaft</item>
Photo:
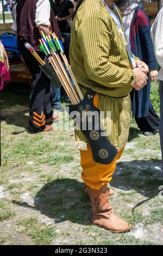
[[[92,204],[93,224],[112,232],[125,232],[131,228],[130,224],[112,212],[107,185],[102,186],[100,190],[92,190],[87,186],[86,190],[89,193]]]

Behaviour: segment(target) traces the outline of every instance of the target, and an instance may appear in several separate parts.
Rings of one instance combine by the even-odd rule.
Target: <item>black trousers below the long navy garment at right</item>
[[[147,117],[135,117],[135,121],[142,132],[155,132],[156,130],[159,130],[160,118],[153,107],[149,108]]]

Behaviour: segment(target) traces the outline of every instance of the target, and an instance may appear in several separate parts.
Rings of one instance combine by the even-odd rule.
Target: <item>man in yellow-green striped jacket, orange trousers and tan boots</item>
[[[120,2],[120,1],[119,1]],[[124,2],[124,0],[123,0]],[[116,216],[109,202],[107,184],[128,140],[130,92],[147,84],[148,67],[132,56],[122,26],[122,17],[112,0],[79,1],[70,44],[70,62],[83,94],[86,88],[96,92],[93,99],[104,112],[102,123],[110,127],[108,140],[118,153],[110,164],[93,161],[91,149],[82,131],[75,131],[80,149],[84,191],[92,204],[92,222],[105,229],[123,232],[130,224]],[[107,112],[111,113],[110,118]]]

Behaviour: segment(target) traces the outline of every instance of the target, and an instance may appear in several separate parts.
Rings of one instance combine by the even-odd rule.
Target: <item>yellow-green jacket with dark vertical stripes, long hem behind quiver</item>
[[[71,32],[70,62],[82,92],[87,87],[99,93],[98,108],[105,112],[102,123],[111,129],[108,139],[121,150],[128,139],[129,93],[135,74],[122,36],[101,0],[84,0],[79,7]],[[106,111],[111,112],[110,118]],[[75,133],[78,148],[86,149],[83,133]]]

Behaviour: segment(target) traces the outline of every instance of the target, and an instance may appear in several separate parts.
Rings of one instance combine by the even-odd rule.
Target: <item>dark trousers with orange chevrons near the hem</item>
[[[21,53],[24,62],[26,62],[33,77],[28,129],[30,132],[40,132],[45,128],[45,119],[48,119],[53,115],[51,106],[51,81],[40,70],[39,62],[37,62],[37,60],[26,50],[26,48],[24,48],[23,45]],[[37,53],[42,59],[45,58],[44,53]]]

